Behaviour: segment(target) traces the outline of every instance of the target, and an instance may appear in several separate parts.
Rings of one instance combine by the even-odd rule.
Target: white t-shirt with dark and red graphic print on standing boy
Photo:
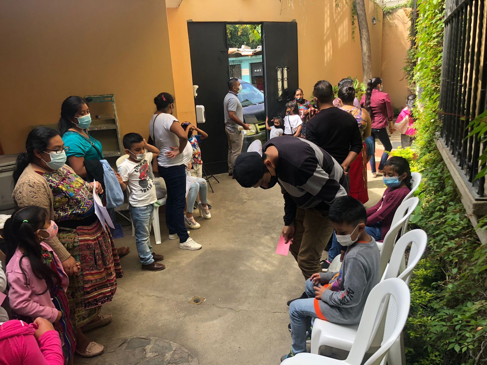
[[[131,206],[145,206],[157,201],[154,182],[150,174],[151,162],[152,152],[146,152],[142,161],[134,163],[125,159],[118,166],[118,173],[122,176],[122,180],[128,182],[129,185],[129,203]]]

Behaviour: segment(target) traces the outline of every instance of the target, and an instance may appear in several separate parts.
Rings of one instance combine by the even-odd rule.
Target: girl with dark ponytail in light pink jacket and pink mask
[[[64,360],[71,364],[76,348],[66,289],[69,279],[44,239],[56,237],[57,226],[44,208],[25,206],[7,219],[7,281],[10,307],[19,319],[41,317],[59,332]]]

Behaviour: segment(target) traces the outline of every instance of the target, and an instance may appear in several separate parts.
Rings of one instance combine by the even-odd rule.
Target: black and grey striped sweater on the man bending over
[[[272,138],[262,146],[278,150],[276,173],[284,195],[284,224],[296,218],[296,208],[327,211],[338,197],[347,195],[343,168],[314,143],[292,136]]]

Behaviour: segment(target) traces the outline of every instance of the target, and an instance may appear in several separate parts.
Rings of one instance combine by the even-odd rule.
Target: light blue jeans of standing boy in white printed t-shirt
[[[144,206],[131,206],[129,208],[135,227],[135,245],[142,265],[150,265],[154,262],[152,257],[152,246],[150,245],[150,225],[152,224],[152,204]]]

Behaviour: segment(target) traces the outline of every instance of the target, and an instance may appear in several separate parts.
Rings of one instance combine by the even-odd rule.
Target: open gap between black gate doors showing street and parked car
[[[267,140],[265,129],[264,73],[262,63],[262,25],[226,24],[226,45],[228,49],[229,78],[239,79],[242,85],[237,97],[242,104],[244,123],[250,130],[244,130],[242,151],[260,140]]]

